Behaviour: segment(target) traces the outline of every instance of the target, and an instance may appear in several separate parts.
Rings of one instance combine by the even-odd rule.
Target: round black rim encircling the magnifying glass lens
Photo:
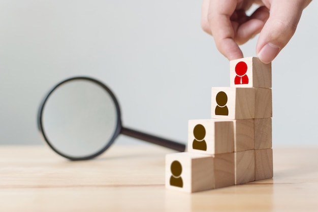
[[[47,100],[49,99],[50,95],[56,90],[56,88],[58,88],[59,86],[61,86],[62,84],[66,83],[66,82],[69,82],[69,81],[74,81],[74,80],[86,80],[86,81],[91,81],[91,82],[94,82],[94,83],[97,83],[98,85],[100,85],[101,87],[103,87],[106,92],[111,96],[114,104],[115,104],[115,107],[116,107],[116,112],[117,112],[117,125],[116,125],[116,130],[111,138],[111,140],[97,153],[95,154],[92,154],[92,155],[89,155],[89,156],[85,156],[85,157],[71,157],[71,156],[68,156],[68,155],[65,155],[61,152],[59,152],[59,150],[57,150],[52,144],[51,142],[49,141],[48,137],[46,136],[46,133],[45,133],[45,130],[43,128],[43,123],[42,123],[42,113],[43,113],[43,110],[44,110],[44,107],[45,107],[45,104],[47,102]],[[43,138],[45,140],[45,142],[54,150],[55,153],[57,153],[58,155],[62,156],[62,157],[65,157],[65,158],[68,158],[70,160],[73,160],[73,161],[79,161],[79,160],[89,160],[89,159],[92,159],[92,158],[95,158],[99,155],[101,155],[102,153],[105,152],[106,149],[108,149],[110,147],[110,145],[114,142],[114,140],[116,139],[116,137],[120,134],[120,131],[121,131],[121,114],[120,114],[120,109],[119,109],[119,104],[117,102],[117,99],[115,97],[115,95],[112,93],[112,91],[102,82],[96,80],[96,79],[93,79],[93,78],[90,78],[90,77],[84,77],[84,76],[79,76],[79,77],[72,77],[72,78],[68,78],[66,80],[63,80],[61,82],[59,82],[58,84],[56,84],[46,95],[45,95],[45,98],[43,99],[43,101],[41,102],[40,104],[40,108],[39,108],[39,113],[38,113],[38,128],[40,130],[40,133],[42,133],[43,135]]]

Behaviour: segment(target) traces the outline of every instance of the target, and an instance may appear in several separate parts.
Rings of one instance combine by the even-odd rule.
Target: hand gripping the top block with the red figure
[[[229,60],[243,57],[240,44],[260,33],[256,54],[270,63],[290,41],[301,13],[311,0],[203,0],[201,25],[213,35],[217,49]],[[260,7],[251,15],[252,4]]]

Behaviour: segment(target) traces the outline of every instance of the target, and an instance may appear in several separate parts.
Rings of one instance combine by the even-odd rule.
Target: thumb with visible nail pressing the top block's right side
[[[270,63],[294,35],[302,10],[303,0],[272,1],[270,16],[265,23],[256,47],[263,63]],[[308,3],[309,4],[309,3]]]

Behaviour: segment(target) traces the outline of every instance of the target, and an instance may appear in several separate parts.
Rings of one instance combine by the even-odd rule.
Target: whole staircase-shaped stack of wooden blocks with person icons
[[[211,119],[189,120],[188,152],[166,156],[166,188],[198,192],[273,177],[271,64],[230,62]]]

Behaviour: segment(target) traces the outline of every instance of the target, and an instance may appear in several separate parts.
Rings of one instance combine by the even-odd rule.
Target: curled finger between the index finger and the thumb
[[[258,8],[249,20],[242,23],[236,32],[235,42],[239,45],[246,43],[249,39],[259,34],[269,17],[269,10],[266,7]]]

